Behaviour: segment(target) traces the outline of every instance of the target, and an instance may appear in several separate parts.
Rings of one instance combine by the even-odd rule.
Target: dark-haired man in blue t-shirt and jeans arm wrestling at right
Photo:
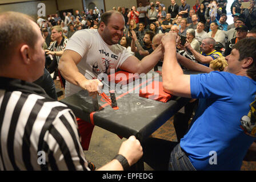
[[[170,32],[162,39],[163,88],[175,96],[199,98],[198,110],[180,143],[149,138],[143,160],[162,170],[239,170],[256,139],[241,122],[256,94],[256,39],[235,44],[226,57],[226,72],[183,75],[175,56],[176,38]]]

